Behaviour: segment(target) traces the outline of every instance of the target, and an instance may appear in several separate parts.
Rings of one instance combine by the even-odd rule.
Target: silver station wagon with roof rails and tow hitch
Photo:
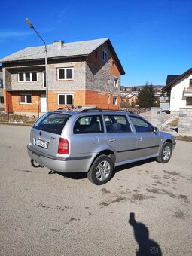
[[[86,172],[93,184],[108,182],[114,168],[155,157],[167,163],[175,139],[138,114],[98,108],[50,111],[31,130],[32,166]]]

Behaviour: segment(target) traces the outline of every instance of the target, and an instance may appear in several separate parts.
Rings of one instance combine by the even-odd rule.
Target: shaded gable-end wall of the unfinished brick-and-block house
[[[108,52],[108,62],[102,60],[103,50]],[[114,87],[114,78],[118,79],[118,87]],[[102,108],[120,108],[120,71],[117,69],[117,63],[114,61],[108,44],[103,44],[87,57],[86,89],[99,92],[97,99],[100,101],[100,108],[101,105]],[[90,102],[92,94],[86,94],[87,102]],[[117,106],[112,104],[113,96],[117,96]],[[107,103],[108,97],[110,97],[109,104]],[[96,102],[96,99],[93,100]]]

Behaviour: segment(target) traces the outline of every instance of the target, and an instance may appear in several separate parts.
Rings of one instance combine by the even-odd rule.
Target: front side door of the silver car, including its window
[[[136,158],[156,155],[160,147],[160,134],[154,133],[154,127],[142,117],[129,117],[136,130]]]

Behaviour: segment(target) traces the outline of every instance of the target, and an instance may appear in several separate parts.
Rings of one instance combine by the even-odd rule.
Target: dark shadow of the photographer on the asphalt
[[[129,223],[133,227],[134,236],[139,245],[136,256],[162,256],[160,245],[149,239],[148,227],[136,221],[134,212],[130,212]]]

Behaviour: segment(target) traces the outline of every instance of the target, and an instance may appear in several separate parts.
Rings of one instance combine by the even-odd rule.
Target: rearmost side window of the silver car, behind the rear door
[[[73,133],[103,133],[102,117],[90,115],[78,118],[73,127]]]

